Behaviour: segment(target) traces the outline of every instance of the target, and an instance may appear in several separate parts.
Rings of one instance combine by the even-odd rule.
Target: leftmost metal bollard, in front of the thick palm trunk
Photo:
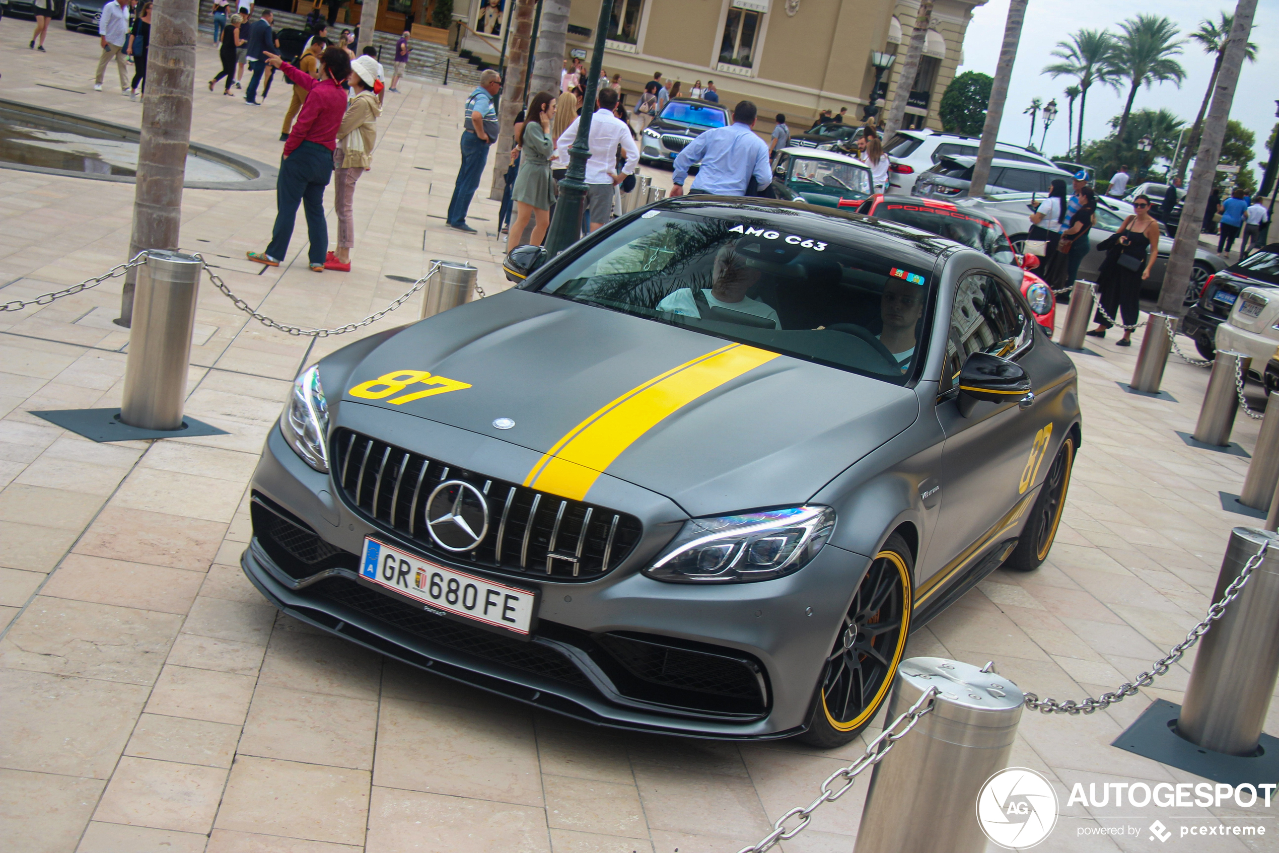
[[[138,267],[120,404],[120,421],[129,426],[182,428],[201,270],[198,258],[168,249],[148,251]]]

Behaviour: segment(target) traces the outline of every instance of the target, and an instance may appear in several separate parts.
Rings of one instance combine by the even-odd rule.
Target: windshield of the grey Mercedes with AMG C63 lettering
[[[932,270],[726,208],[651,210],[588,247],[544,293],[904,384],[925,348]],[[732,217],[728,217],[732,216]],[[811,224],[811,223],[810,223]],[[838,234],[838,231],[834,231]],[[918,256],[916,256],[918,257]]]

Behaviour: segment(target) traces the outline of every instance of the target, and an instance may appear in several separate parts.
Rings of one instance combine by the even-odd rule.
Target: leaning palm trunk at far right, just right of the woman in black
[[[1212,92],[1212,105],[1204,123],[1204,138],[1195,152],[1195,171],[1191,173],[1191,185],[1186,191],[1182,206],[1182,221],[1177,226],[1177,242],[1168,258],[1168,272],[1164,274],[1159,290],[1159,309],[1181,317],[1186,308],[1182,299],[1195,269],[1195,249],[1198,247],[1200,230],[1204,226],[1204,207],[1212,180],[1216,178],[1216,161],[1221,156],[1221,143],[1225,141],[1225,124],[1230,118],[1230,104],[1239,86],[1239,69],[1247,52],[1248,33],[1252,32],[1252,19],[1257,12],[1257,0],[1239,0],[1234,8],[1234,26],[1225,43],[1221,59],[1221,72]]]

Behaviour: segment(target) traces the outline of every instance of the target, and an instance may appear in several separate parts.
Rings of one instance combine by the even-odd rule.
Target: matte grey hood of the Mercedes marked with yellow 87
[[[687,329],[510,290],[404,327],[352,370],[347,387],[326,390],[330,400],[381,405],[510,441],[544,454],[540,466],[567,458],[564,448],[579,446],[574,436],[582,434],[582,442],[618,450],[586,472],[587,481],[605,471],[670,497],[692,515],[803,503],[918,413],[911,389],[746,348],[737,352],[769,361],[729,370],[721,384],[673,408],[660,389],[640,398],[627,411],[652,419],[648,426],[599,418],[619,398],[631,399],[664,373],[729,347]],[[439,386],[413,384],[381,399],[350,394],[399,371],[428,371],[469,387],[398,404],[391,400]],[[385,387],[372,385],[365,394]],[[600,425],[587,435],[583,422],[593,423],[592,416]],[[500,418],[514,426],[496,428]],[[536,471],[526,482],[565,494],[545,480],[535,482]]]

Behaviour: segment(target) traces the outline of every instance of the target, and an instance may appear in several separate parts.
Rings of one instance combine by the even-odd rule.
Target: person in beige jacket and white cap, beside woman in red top
[[[350,63],[350,101],[338,128],[338,147],[333,151],[333,193],[338,214],[338,251],[329,252],[324,269],[350,272],[350,249],[356,244],[354,194],[356,182],[372,168],[373,143],[377,142],[377,116],[382,107],[373,95],[377,61],[357,56]]]

